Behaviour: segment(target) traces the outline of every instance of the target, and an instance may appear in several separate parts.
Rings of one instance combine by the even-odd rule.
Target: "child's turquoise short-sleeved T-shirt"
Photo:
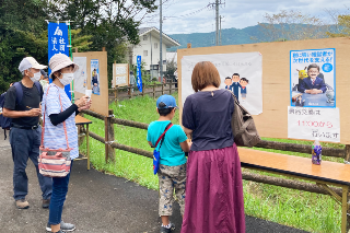
[[[147,140],[155,145],[156,140],[164,132],[165,127],[170,124],[170,120],[153,121],[150,124],[147,132]],[[187,140],[187,137],[179,125],[173,125],[165,132],[165,138],[161,147],[161,160],[160,163],[166,166],[178,166],[186,163],[186,156],[182,150],[179,143]],[[159,148],[160,145],[158,145]]]

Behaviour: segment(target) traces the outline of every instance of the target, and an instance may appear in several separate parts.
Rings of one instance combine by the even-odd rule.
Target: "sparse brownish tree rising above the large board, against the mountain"
[[[316,16],[303,14],[301,11],[282,10],[278,14],[264,15],[264,22],[258,23],[265,37],[261,42],[284,42],[314,39],[327,37],[330,25]]]

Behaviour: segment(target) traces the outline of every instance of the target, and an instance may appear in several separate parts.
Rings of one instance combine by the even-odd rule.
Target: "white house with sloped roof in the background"
[[[166,48],[179,46],[179,44],[162,34],[162,59],[163,72],[166,71]],[[141,56],[141,61],[145,63],[145,70],[151,73],[151,78],[159,77],[160,63],[160,31],[155,27],[139,28],[140,44],[129,46],[129,62],[137,63],[137,56]]]

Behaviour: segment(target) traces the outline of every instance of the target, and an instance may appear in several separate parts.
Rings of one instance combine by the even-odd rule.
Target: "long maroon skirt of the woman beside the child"
[[[182,233],[244,233],[237,148],[190,151]]]

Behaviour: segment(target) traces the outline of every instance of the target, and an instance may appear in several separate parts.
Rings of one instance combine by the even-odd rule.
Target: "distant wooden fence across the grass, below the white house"
[[[156,90],[158,88],[161,88],[161,90]],[[153,96],[153,98],[155,98],[159,95],[163,95],[165,93],[172,94],[178,90],[177,82],[173,82],[173,80],[166,83],[159,83],[159,84],[154,83],[150,85],[142,84],[142,92],[140,93],[133,93],[131,91],[132,89],[138,90],[137,85],[131,86],[131,84],[129,84],[128,86],[116,86],[115,89],[108,89],[109,93],[112,92],[114,93],[114,96],[109,95],[109,102],[110,101],[117,102],[124,98],[132,98],[133,96],[144,96],[144,95],[150,95],[150,96]],[[152,89],[152,91],[151,92],[147,91],[148,89]]]

